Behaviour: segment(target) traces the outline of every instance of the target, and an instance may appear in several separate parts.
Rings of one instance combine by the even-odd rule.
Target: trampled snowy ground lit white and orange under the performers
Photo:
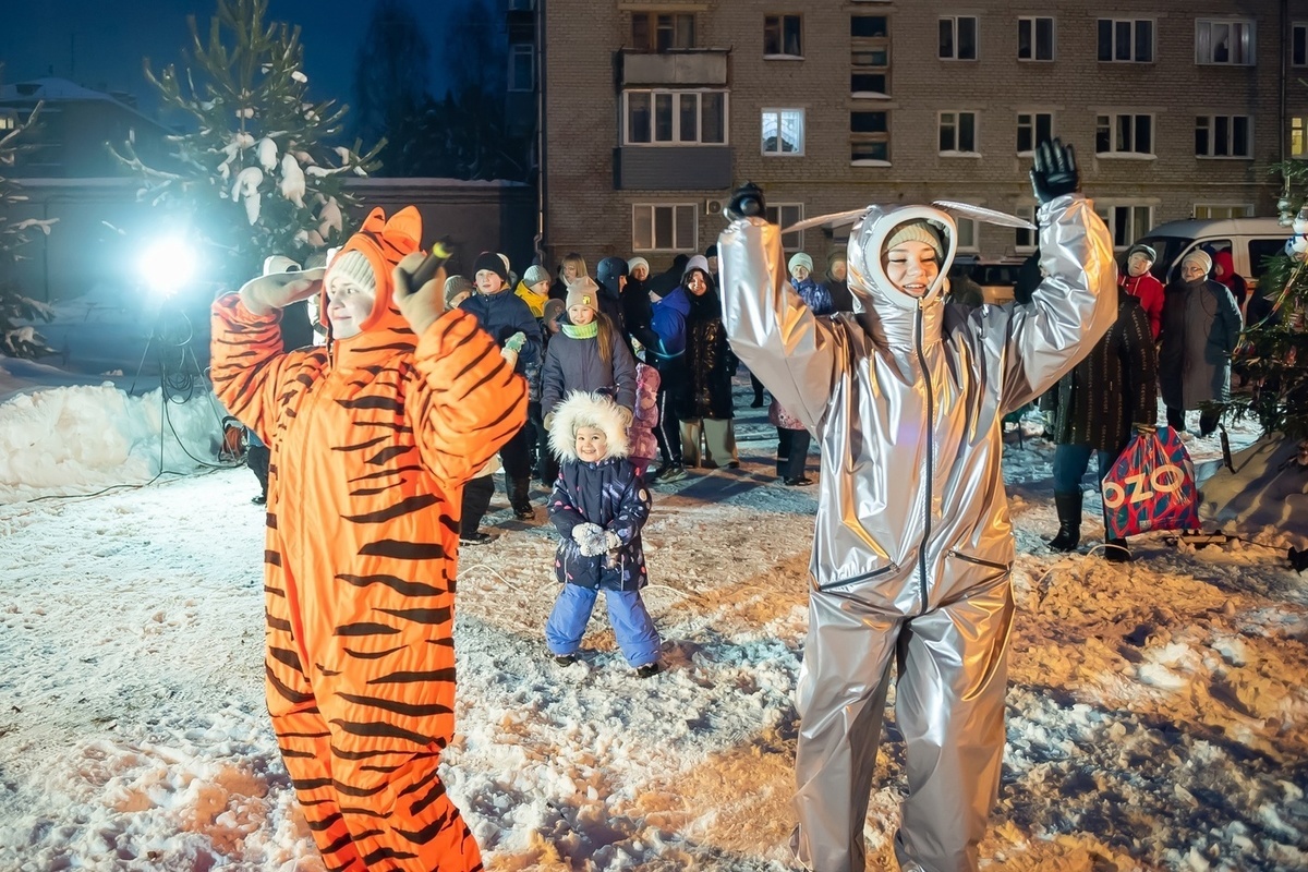
[[[0,869],[318,872],[263,709],[254,476],[196,471],[187,452],[215,458],[199,396],[33,392],[97,384],[94,367],[0,358]],[[487,526],[504,535],[463,550],[443,775],[489,869],[793,868],[818,490],[774,484],[747,395],[742,382],[743,468],[661,488],[646,528],[667,673],[633,677],[602,611],[582,663],[542,660],[556,590],[543,512],[522,524],[497,495]],[[1254,435],[1232,433],[1236,447]],[[1245,529],[1270,548],[1150,535],[1127,566],[1053,554],[1052,446],[1015,437],[1020,611],[984,863],[1308,868],[1308,584],[1284,560],[1305,543]],[[161,446],[164,469],[192,475],[52,498],[149,481]],[[1216,441],[1192,451],[1213,460]],[[1087,499],[1087,546],[1096,510]],[[870,868],[896,868],[903,762],[887,743]]]

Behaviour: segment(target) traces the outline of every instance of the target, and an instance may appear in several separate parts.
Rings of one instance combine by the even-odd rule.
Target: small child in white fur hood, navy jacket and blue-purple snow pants
[[[560,665],[577,662],[599,591],[628,665],[638,676],[662,671],[658,630],[641,600],[649,582],[641,528],[650,494],[628,460],[625,416],[603,394],[573,392],[555,407],[549,447],[559,478],[549,519],[559,529],[555,575],[562,583],[545,622],[545,645]]]

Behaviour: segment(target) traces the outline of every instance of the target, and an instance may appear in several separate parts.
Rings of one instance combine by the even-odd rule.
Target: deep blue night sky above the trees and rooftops
[[[413,3],[433,56],[442,44],[439,16],[424,7],[453,5],[453,0]],[[268,21],[300,25],[305,46],[305,73],[315,99],[353,102],[354,52],[368,29],[370,0],[271,0]],[[186,16],[195,14],[203,39],[216,0],[0,0],[0,61],[5,84],[58,76],[95,90],[135,94],[143,109],[156,106],[141,73],[149,56],[158,71],[181,65],[181,50],[190,44]],[[443,92],[438,59],[432,64],[433,92]]]

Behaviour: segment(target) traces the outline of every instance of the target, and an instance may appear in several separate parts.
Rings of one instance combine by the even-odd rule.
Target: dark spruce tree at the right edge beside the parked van
[[[1308,166],[1287,161],[1277,170],[1286,184],[1277,207],[1288,242],[1249,299],[1245,343],[1233,363],[1253,392],[1235,395],[1231,412],[1298,442],[1308,439]]]

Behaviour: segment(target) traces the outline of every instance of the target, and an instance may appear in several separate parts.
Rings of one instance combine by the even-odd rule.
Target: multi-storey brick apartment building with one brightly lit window
[[[1308,157],[1308,0],[538,3],[511,7],[544,46],[549,264],[638,252],[659,269],[704,251],[744,179],[786,225],[938,197],[1029,217],[1031,149],[1049,133],[1076,145],[1124,248],[1173,218],[1275,214],[1269,166]],[[786,246],[821,264],[846,235]],[[986,259],[1033,243],[960,235]]]

